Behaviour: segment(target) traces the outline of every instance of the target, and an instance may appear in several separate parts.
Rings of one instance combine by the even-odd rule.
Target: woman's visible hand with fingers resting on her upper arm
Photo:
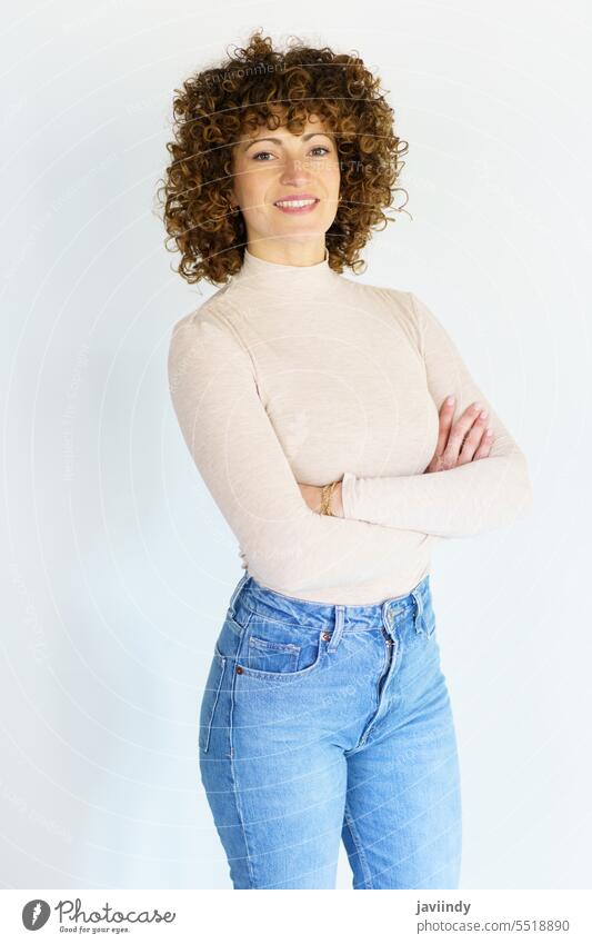
[[[486,426],[488,414],[482,416],[479,401],[466,407],[453,424],[454,401],[449,404],[448,399],[440,409],[438,444],[427,473],[453,469],[473,459],[483,459],[489,456],[493,443],[493,434]]]

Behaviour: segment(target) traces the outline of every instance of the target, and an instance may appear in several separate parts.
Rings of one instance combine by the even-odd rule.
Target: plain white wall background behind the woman
[[[0,885],[230,886],[198,706],[243,572],[165,364],[213,288],[154,193],[173,89],[259,26],[380,74],[413,219],[362,278],[430,305],[530,464],[532,515],[432,565],[461,886],[589,887],[592,17],[539,0],[4,9]]]

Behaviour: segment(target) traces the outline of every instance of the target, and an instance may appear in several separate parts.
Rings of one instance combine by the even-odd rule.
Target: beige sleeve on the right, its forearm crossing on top
[[[409,292],[409,299],[428,389],[438,411],[449,394],[456,397],[454,420],[479,400],[489,410],[493,444],[488,457],[443,471],[375,478],[345,473],[344,517],[440,537],[468,537],[509,524],[532,505],[525,457],[443,326],[413,294]]]

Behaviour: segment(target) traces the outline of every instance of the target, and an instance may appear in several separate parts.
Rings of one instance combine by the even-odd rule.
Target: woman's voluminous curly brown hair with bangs
[[[329,265],[338,272],[363,270],[360,250],[372,229],[384,229],[408,150],[393,131],[394,113],[380,80],[354,54],[311,48],[298,38],[273,49],[257,30],[248,46],[220,66],[197,72],[175,89],[172,160],[158,189],[163,221],[181,252],[179,272],[188,282],[220,286],[242,266],[247,230],[232,212],[233,146],[244,132],[278,127],[278,107],[292,133],[318,115],[335,136],[341,169],[340,202],[327,232]],[[227,49],[227,54],[228,49]],[[407,200],[404,201],[407,202]],[[402,207],[395,208],[401,212]],[[407,211],[405,211],[407,212]]]

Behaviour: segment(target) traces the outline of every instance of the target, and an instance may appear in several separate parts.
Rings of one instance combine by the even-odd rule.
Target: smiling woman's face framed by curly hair
[[[321,241],[324,247],[338,209],[340,169],[334,138],[318,116],[310,116],[301,135],[283,125],[273,131],[259,128],[234,146],[232,169],[233,201],[249,244],[259,242],[258,255],[265,244],[270,248],[269,239],[280,240],[278,248],[287,251],[287,244]],[[297,198],[305,206],[285,206]]]

